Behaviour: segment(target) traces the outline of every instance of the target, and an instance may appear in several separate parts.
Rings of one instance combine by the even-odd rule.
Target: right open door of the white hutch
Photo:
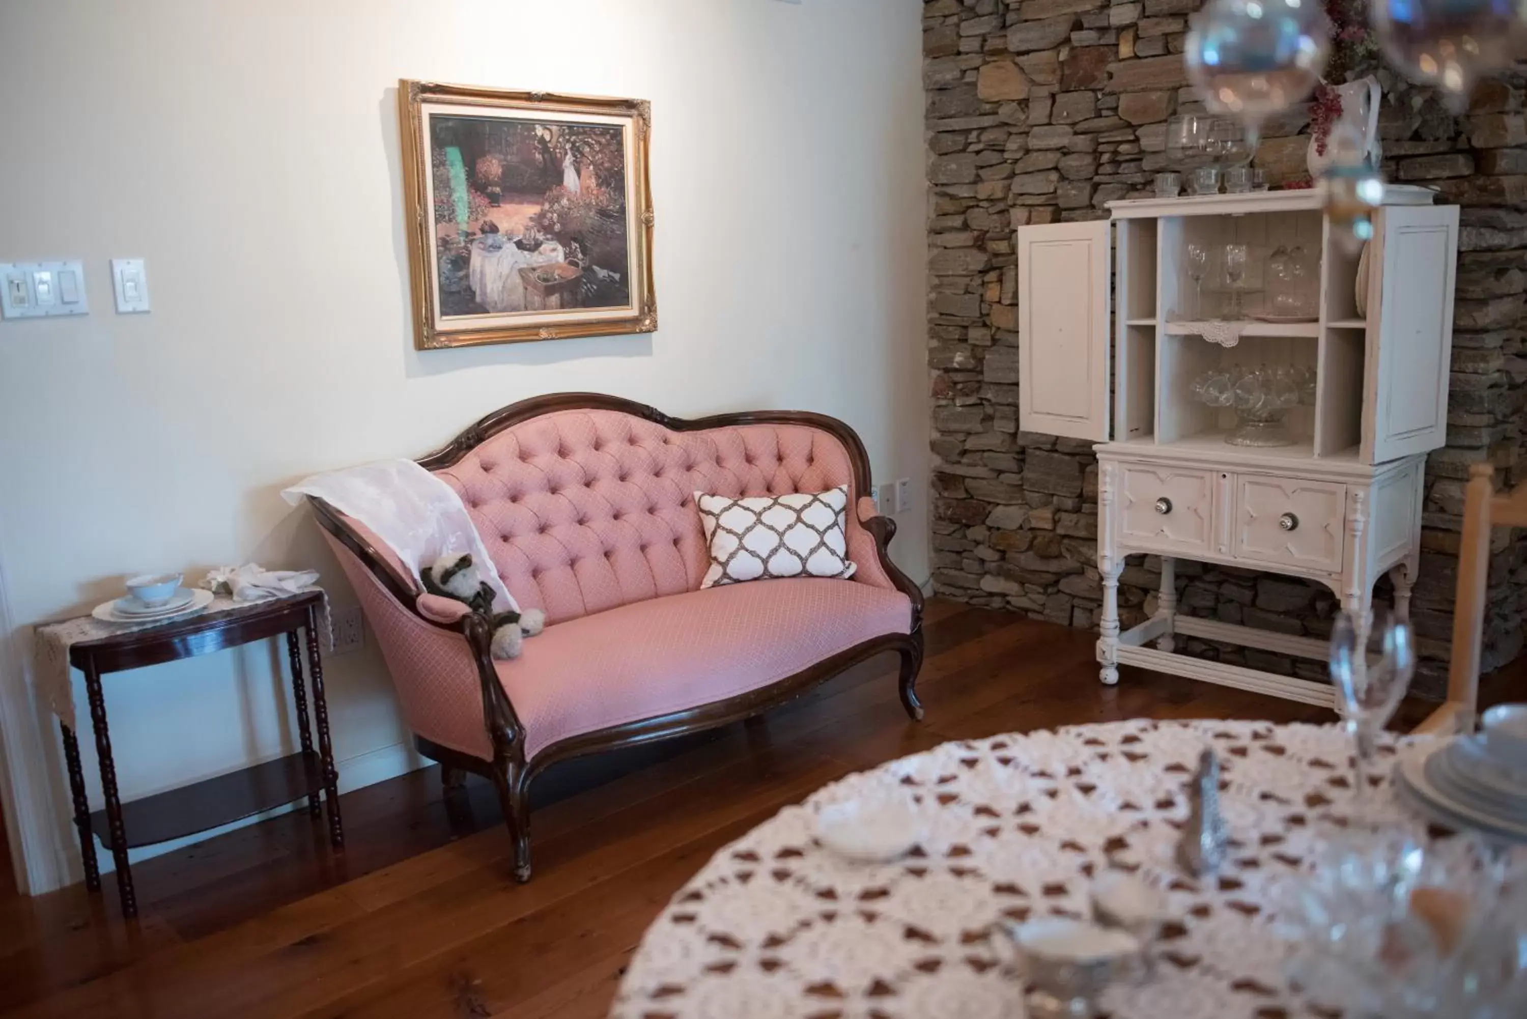
[[[1385,463],[1446,445],[1458,206],[1388,205],[1370,249],[1362,457]]]

